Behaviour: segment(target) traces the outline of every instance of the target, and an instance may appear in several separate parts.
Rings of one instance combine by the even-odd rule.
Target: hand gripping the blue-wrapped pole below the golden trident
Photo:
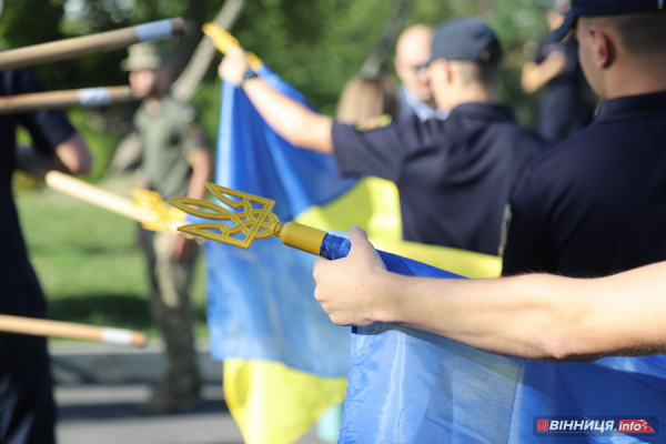
[[[352,250],[344,259],[320,258],[314,264],[314,297],[339,325],[366,326],[387,321],[394,304],[392,273],[359,228],[350,230]]]

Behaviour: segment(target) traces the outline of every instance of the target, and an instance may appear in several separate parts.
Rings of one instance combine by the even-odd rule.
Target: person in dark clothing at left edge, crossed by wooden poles
[[[0,95],[42,90],[29,70],[0,73]],[[11,190],[19,162],[18,124],[29,131],[37,152],[54,167],[81,173],[90,171],[92,161],[88,147],[60,111],[0,115],[0,313],[43,317],[44,295],[28,260]],[[54,424],[46,340],[0,333],[0,443],[54,443]]]

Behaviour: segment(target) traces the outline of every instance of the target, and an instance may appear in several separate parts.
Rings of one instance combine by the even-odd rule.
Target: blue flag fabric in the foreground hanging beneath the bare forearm
[[[401,274],[460,278],[381,255]],[[539,417],[650,417],[658,427],[558,435],[537,433]],[[535,362],[380,324],[353,329],[339,443],[663,443],[665,422],[666,356]]]

